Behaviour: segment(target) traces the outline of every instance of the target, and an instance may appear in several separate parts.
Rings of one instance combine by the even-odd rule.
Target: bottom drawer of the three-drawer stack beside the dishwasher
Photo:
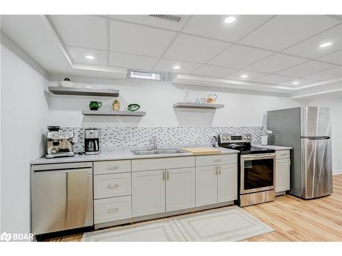
[[[94,200],[95,224],[123,220],[131,216],[131,196]]]

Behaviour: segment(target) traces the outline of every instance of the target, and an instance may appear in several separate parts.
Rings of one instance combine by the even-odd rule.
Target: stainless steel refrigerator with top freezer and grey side
[[[312,199],[332,193],[330,117],[321,106],[267,111],[269,145],[293,147],[290,194]]]

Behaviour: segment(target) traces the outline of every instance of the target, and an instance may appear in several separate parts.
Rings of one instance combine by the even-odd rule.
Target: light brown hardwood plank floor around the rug
[[[334,193],[304,200],[291,195],[244,210],[274,229],[247,242],[342,241],[342,174],[333,176]],[[82,234],[54,238],[51,242],[77,242]]]

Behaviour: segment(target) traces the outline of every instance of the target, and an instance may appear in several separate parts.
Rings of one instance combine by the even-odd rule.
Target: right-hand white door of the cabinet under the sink
[[[166,212],[195,207],[195,168],[166,170]]]

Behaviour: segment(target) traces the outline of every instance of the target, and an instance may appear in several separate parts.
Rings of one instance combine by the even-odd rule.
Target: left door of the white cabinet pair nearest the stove
[[[196,207],[218,202],[216,166],[196,167]]]

